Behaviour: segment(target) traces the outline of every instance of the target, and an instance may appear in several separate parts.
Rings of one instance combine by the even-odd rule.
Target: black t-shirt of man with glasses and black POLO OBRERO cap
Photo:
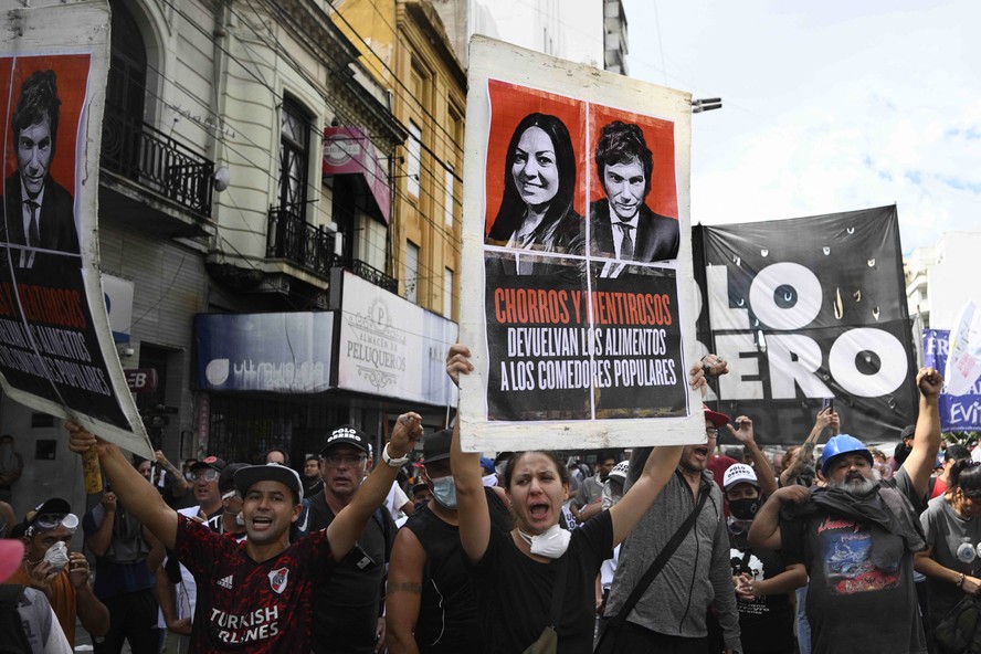
[[[310,497],[309,529],[334,520],[324,494]],[[314,589],[314,652],[372,654],[375,629],[384,595],[386,561],[392,551],[395,524],[387,510],[368,518],[358,544],[338,561],[326,583]]]

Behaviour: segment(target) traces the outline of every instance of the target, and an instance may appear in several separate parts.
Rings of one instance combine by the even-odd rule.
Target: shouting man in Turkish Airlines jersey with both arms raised
[[[146,479],[122,450],[67,423],[68,447],[95,451],[122,500],[178,559],[201,591],[191,633],[191,652],[309,652],[313,647],[312,600],[337,565],[355,549],[365,525],[378,510],[399,468],[422,437],[422,416],[403,413],[394,422],[382,463],[360,484],[354,499],[326,529],[289,541],[289,526],[303,510],[303,485],[296,471],[282,465],[251,465],[235,473],[243,499],[247,538],[243,542],[215,534],[179,516],[160,495],[146,492]],[[133,647],[155,652],[156,647]]]

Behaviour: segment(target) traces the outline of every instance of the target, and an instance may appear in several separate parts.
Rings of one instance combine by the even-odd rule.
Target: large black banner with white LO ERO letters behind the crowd
[[[895,207],[696,226],[698,340],[730,362],[718,408],[800,443],[823,398],[842,432],[896,440],[917,410]]]

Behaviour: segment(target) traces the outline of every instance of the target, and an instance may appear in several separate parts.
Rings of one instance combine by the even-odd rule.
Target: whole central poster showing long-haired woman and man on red
[[[489,40],[471,52],[464,446],[704,440],[687,97]]]

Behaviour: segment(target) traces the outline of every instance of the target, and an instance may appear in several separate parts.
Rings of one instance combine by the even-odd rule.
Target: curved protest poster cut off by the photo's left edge
[[[152,457],[98,274],[108,4],[23,8],[3,19],[0,383],[18,402]]]

